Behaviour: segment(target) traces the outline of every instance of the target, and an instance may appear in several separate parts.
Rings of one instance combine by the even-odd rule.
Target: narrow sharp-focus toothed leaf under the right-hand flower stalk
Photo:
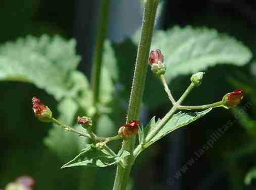
[[[190,122],[193,122],[201,117],[203,117],[205,114],[209,113],[212,110],[212,108],[206,109],[204,111],[197,111],[197,112],[183,112],[180,111],[176,114],[174,114],[169,121],[166,122],[166,124],[160,129],[160,131],[148,142],[145,142],[144,147],[148,147],[157,140],[163,138],[166,136],[166,134],[169,134],[170,132],[177,130],[180,127],[186,126],[190,124]],[[147,138],[148,134],[153,130],[153,128],[158,127],[160,124],[160,119],[156,122],[155,118],[153,117],[151,121],[148,123],[148,125],[145,127],[145,136]]]

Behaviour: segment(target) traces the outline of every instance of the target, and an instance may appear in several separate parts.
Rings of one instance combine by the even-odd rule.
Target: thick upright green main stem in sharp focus
[[[130,94],[129,108],[127,114],[127,122],[129,120],[138,120],[140,115],[140,107],[142,95],[144,92],[145,78],[147,72],[147,60],[150,52],[152,33],[154,28],[154,20],[156,19],[156,11],[158,0],[146,0],[144,8],[144,16],[142,21],[141,36],[136,58],[132,91]],[[124,168],[117,166],[114,190],[125,190],[129,180],[130,170],[134,163],[133,150],[136,137],[130,137],[123,140],[122,150],[130,152],[130,156],[125,158],[126,166]]]

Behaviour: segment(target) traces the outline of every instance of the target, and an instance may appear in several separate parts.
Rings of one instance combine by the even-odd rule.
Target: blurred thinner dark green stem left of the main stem
[[[103,46],[105,41],[106,29],[108,27],[109,0],[102,0],[100,18],[97,29],[96,44],[92,58],[92,90],[93,104],[97,106],[99,102],[100,76],[102,71]]]

